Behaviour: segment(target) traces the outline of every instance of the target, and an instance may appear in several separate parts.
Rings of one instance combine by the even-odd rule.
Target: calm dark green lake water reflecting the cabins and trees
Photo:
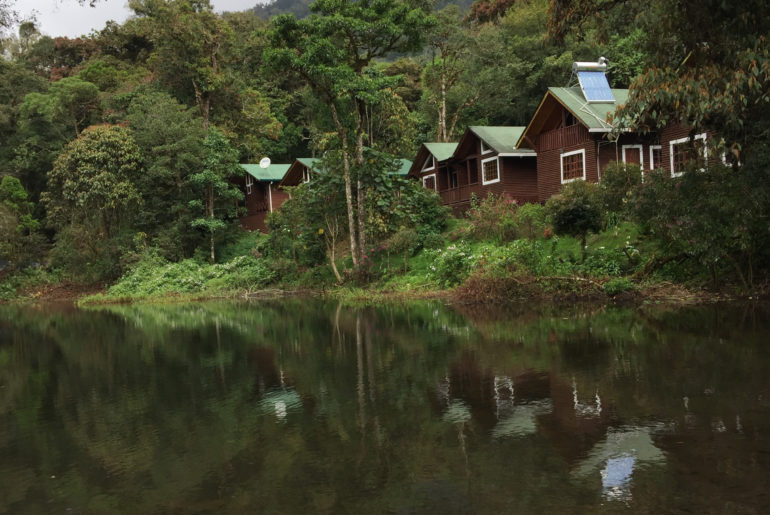
[[[767,513],[770,308],[0,306],[0,512]]]

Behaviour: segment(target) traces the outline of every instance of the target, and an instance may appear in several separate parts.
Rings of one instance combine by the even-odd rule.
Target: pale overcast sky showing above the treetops
[[[13,2],[11,2],[13,4]],[[245,11],[260,0],[211,0],[217,12]],[[21,19],[37,19],[37,27],[52,37],[77,37],[101,30],[109,20],[123,23],[131,14],[127,0],[100,0],[95,7],[78,4],[77,0],[16,0],[14,9]]]

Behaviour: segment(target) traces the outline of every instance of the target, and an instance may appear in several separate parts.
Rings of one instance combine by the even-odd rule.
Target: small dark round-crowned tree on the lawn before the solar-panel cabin
[[[597,188],[585,181],[570,182],[545,206],[556,233],[580,238],[584,249],[588,233],[602,228],[603,212]]]

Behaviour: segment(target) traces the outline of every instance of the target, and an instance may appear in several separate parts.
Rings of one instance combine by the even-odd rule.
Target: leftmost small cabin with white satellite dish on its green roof
[[[281,207],[289,195],[279,187],[287,164],[242,164],[244,177],[239,184],[243,190],[246,212],[240,216],[241,226],[251,231],[267,232],[267,214]]]

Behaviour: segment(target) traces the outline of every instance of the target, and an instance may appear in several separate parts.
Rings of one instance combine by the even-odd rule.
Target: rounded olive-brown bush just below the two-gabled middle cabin
[[[516,213],[518,204],[509,195],[494,195],[471,199],[471,207],[465,216],[470,221],[470,233],[477,240],[495,242],[516,238]]]

